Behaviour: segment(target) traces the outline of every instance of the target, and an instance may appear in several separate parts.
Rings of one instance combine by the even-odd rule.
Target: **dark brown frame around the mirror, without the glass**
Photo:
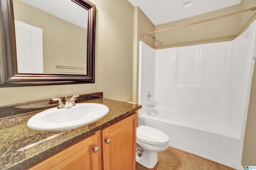
[[[72,0],[88,10],[87,74],[18,73],[12,0],[0,0],[0,87],[94,83],[96,6],[88,0]]]

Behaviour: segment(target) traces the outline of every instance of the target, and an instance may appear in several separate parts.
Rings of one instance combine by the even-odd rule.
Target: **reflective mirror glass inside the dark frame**
[[[42,30],[42,51],[34,54],[34,48],[40,47],[33,38],[25,38],[25,33],[21,33],[15,22],[17,55],[22,50],[26,55],[17,58],[18,73],[87,74],[86,9],[69,0],[13,0],[13,8],[15,20]],[[43,68],[33,70],[33,67],[42,67],[36,66],[39,63],[43,63]],[[27,70],[22,69],[23,65]],[[31,72],[28,65],[32,65],[29,66]]]

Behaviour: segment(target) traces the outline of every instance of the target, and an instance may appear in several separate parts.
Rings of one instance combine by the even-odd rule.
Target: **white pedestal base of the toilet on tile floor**
[[[136,162],[145,166],[146,168],[154,168],[156,166],[158,159],[157,159],[157,152],[150,152],[150,151],[136,151]]]

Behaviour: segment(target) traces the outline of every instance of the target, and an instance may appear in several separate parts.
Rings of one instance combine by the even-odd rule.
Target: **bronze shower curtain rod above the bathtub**
[[[249,8],[249,9],[247,9],[247,10],[242,10],[242,11],[239,11],[239,12],[234,12],[234,13],[232,13],[232,14],[227,14],[227,15],[218,16],[218,17],[215,17],[215,18],[210,18],[210,19],[208,19],[208,20],[202,20],[202,21],[198,21],[198,22],[192,22],[192,23],[189,23],[189,24],[184,24],[184,25],[180,25],[180,26],[175,26],[175,27],[171,27],[171,28],[166,28],[166,29],[163,29],[163,30],[157,30],[157,31],[152,31],[152,32],[147,32],[147,33],[141,33],[140,36],[144,36],[144,35],[146,35],[146,34],[151,34],[151,33],[155,33],[155,32],[165,31],[165,30],[171,30],[171,29],[179,28],[179,27],[183,27],[183,26],[190,26],[190,25],[193,25],[193,24],[198,24],[198,23],[202,23],[202,22],[207,22],[207,21],[211,21],[211,20],[216,20],[216,19],[219,19],[219,18],[224,18],[224,17],[236,15],[236,14],[242,14],[242,13],[244,13],[244,12],[250,12],[250,11],[253,11],[253,10],[256,10],[256,7]]]

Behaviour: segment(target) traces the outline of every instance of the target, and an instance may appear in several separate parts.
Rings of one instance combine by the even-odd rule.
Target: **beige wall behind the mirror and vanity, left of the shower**
[[[95,83],[0,88],[0,106],[104,92],[104,97],[132,100],[133,16],[128,1],[90,0],[96,5]]]

